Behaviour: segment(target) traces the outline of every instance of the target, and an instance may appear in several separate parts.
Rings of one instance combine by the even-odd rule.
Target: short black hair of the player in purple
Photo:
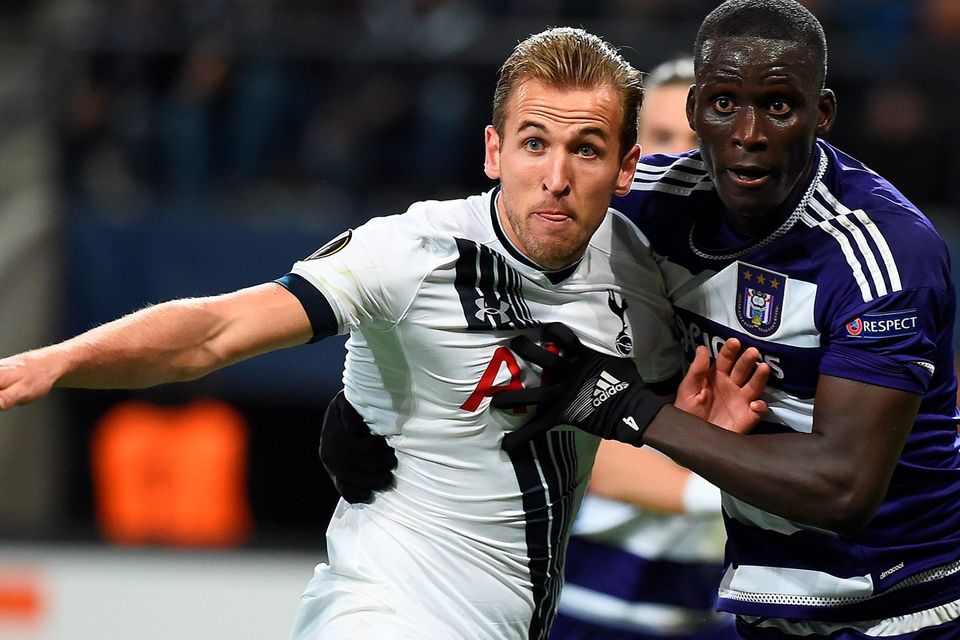
[[[769,38],[802,45],[820,71],[821,86],[827,77],[827,36],[810,10],[795,0],[727,0],[711,11],[697,31],[695,68],[703,62],[703,45],[717,38]]]

